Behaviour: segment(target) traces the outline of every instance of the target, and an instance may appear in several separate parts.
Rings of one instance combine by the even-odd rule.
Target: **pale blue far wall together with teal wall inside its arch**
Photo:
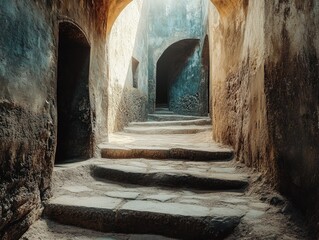
[[[169,107],[180,114],[207,114],[207,85],[202,83],[201,52],[206,35],[206,0],[156,0],[149,10],[149,112],[156,105],[156,68],[161,55],[183,39],[199,39],[175,79],[170,80]],[[178,68],[178,66],[176,66]],[[207,82],[207,79],[206,79]],[[205,86],[204,86],[205,85]],[[204,89],[205,88],[205,89]],[[166,91],[163,89],[163,91]],[[206,93],[207,95],[207,93]],[[206,101],[206,103],[203,103]],[[205,106],[202,106],[205,104]],[[205,109],[205,110],[204,110]]]

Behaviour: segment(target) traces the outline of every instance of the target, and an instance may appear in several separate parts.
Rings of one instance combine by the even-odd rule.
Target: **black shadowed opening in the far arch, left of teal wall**
[[[184,39],[169,46],[156,65],[156,106],[169,107],[170,86],[198,45],[198,39]]]

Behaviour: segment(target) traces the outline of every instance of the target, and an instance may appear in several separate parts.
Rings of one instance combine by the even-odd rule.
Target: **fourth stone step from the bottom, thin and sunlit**
[[[134,134],[195,134],[211,131],[210,125],[185,125],[185,126],[133,126],[124,128],[125,133]]]

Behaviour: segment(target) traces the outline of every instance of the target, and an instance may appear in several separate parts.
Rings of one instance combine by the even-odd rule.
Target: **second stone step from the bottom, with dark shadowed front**
[[[243,190],[248,186],[247,178],[239,174],[214,173],[209,176],[205,170],[185,171],[166,168],[161,171],[155,167],[143,168],[114,162],[94,166],[92,175],[108,181],[176,189]]]

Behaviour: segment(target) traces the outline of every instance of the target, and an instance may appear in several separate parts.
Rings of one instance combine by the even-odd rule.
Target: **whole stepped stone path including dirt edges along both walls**
[[[290,204],[211,140],[210,119],[149,119],[112,134],[102,158],[57,165],[44,219],[23,239],[307,239]]]

